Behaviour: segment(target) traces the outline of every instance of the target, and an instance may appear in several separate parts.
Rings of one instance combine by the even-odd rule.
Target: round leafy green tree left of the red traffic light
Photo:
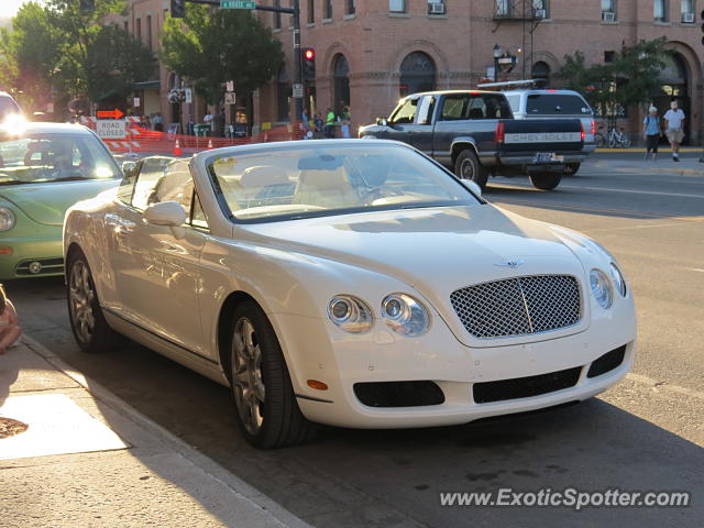
[[[222,101],[228,80],[249,101],[284,63],[280,42],[249,10],[187,4],[184,19],[166,20],[160,43],[164,65],[210,105]]]

